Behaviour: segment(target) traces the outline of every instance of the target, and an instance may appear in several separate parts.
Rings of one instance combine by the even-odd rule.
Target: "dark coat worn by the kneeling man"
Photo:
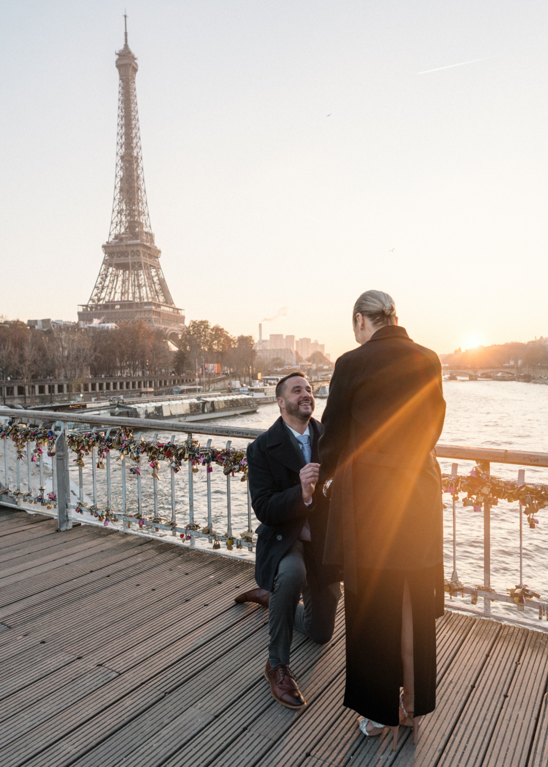
[[[318,444],[322,424],[310,422],[312,463],[319,463]],[[316,574],[322,585],[338,580],[338,568],[322,564],[325,547],[325,525],[328,507],[320,493],[312,496],[312,504],[302,501],[299,472],[305,459],[299,443],[292,439],[280,416],[269,430],[247,448],[249,492],[253,511],[262,524],[256,529],[255,579],[260,588],[272,591],[279,561],[291,548],[309,518]],[[307,574],[307,577],[313,577]]]

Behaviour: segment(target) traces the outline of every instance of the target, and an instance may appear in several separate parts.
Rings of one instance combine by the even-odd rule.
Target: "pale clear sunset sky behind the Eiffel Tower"
[[[187,321],[439,354],[548,336],[548,4],[126,0],[150,220]],[[0,5],[0,314],[76,320],[111,221],[124,5]],[[469,62],[469,63],[464,63]],[[455,64],[460,64],[455,66]]]

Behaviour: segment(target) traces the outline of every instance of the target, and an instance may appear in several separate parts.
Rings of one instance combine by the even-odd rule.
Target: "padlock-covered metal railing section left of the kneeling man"
[[[200,526],[196,523],[195,515],[194,515],[194,472],[196,471],[196,463],[197,461],[193,460],[193,456],[196,455],[196,451],[198,451],[198,456],[200,457],[199,449],[196,446],[196,443],[193,442],[193,435],[196,434],[206,434],[210,436],[229,436],[232,439],[229,439],[226,443],[226,446],[223,446],[222,449],[216,451],[216,456],[223,456],[227,459],[225,463],[230,463],[230,458],[233,456],[233,454],[238,451],[234,451],[234,449],[231,448],[232,441],[235,437],[238,438],[244,438],[244,439],[255,439],[256,436],[259,436],[261,433],[259,430],[249,430],[249,429],[226,429],[219,426],[202,426],[201,424],[192,423],[190,424],[183,424],[183,423],[170,423],[165,421],[157,421],[157,420],[150,420],[150,419],[127,419],[127,418],[118,418],[118,417],[111,417],[111,416],[90,416],[90,415],[84,415],[83,413],[48,413],[47,411],[38,412],[38,411],[27,411],[25,413],[22,413],[21,410],[10,410],[6,408],[0,408],[0,418],[2,416],[9,416],[13,418],[14,421],[19,420],[20,422],[24,422],[26,424],[34,423],[38,428],[42,428],[41,425],[43,423],[54,423],[53,429],[51,430],[51,437],[50,441],[48,443],[48,446],[50,446],[51,449],[48,450],[48,453],[52,453],[51,455],[51,492],[47,493],[45,488],[45,482],[44,482],[44,451],[39,450],[38,455],[36,455],[36,451],[33,452],[33,443],[32,439],[25,439],[25,447],[24,449],[21,449],[21,452],[19,453],[18,458],[15,459],[15,487],[10,488],[9,486],[9,449],[8,449],[8,442],[9,437],[4,436],[2,439],[3,444],[3,453],[4,453],[4,479],[5,482],[3,483],[4,486],[0,490],[2,495],[0,495],[0,502],[5,503],[6,505],[18,505],[23,508],[27,508],[28,510],[34,510],[36,511],[36,505],[39,503],[45,510],[46,513],[51,513],[55,515],[58,518],[58,528],[60,530],[66,530],[71,527],[72,522],[80,522],[83,521],[84,514],[89,514],[94,516],[94,518],[99,518],[101,522],[108,523],[116,523],[116,522],[122,522],[122,529],[124,529],[126,532],[130,530],[130,525],[135,525],[137,528],[139,528],[140,532],[147,532],[154,530],[155,532],[158,532],[160,530],[166,530],[170,531],[172,535],[180,535],[181,538],[184,538],[186,541],[190,541],[190,545],[195,545],[196,538],[206,538],[210,543],[213,544],[214,548],[220,548],[220,543],[225,543],[226,548],[231,551],[233,547],[236,545],[236,548],[243,548],[245,545],[246,548],[249,549],[249,551],[253,551],[253,545],[256,543],[256,540],[253,539],[253,521],[252,521],[252,509],[251,509],[251,499],[249,496],[249,489],[246,482],[246,505],[247,505],[247,529],[243,534],[237,534],[233,531],[233,518],[232,518],[232,489],[231,489],[231,480],[233,477],[233,469],[238,470],[238,467],[234,466],[233,469],[230,469],[228,472],[224,472],[226,476],[226,491],[225,491],[225,501],[226,501],[226,532],[217,532],[214,530],[213,527],[213,502],[212,502],[212,492],[211,492],[211,472],[206,470],[205,473],[206,477],[206,502],[207,502],[207,523],[203,526]],[[15,416],[15,417],[14,417]],[[71,424],[73,426],[76,426],[77,424],[84,424],[87,426],[87,430],[71,430],[69,433],[68,425]],[[181,463],[179,463],[178,466],[171,466],[170,467],[170,518],[163,518],[159,514],[158,510],[158,502],[159,502],[159,488],[158,488],[158,472],[157,470],[153,470],[152,473],[152,485],[153,485],[153,492],[152,492],[152,504],[153,509],[151,509],[150,516],[147,515],[144,509],[144,502],[143,502],[143,495],[144,490],[142,488],[142,475],[140,473],[140,468],[144,463],[144,458],[147,458],[145,453],[141,453],[139,456],[137,456],[137,459],[134,461],[134,467],[130,467],[130,471],[137,475],[137,499],[135,508],[130,509],[128,507],[127,503],[127,454],[124,451],[124,449],[119,450],[120,454],[120,469],[121,469],[121,503],[119,503],[120,499],[117,499],[117,504],[114,505],[113,503],[113,494],[112,494],[112,461],[111,461],[111,449],[101,449],[101,445],[103,443],[108,443],[109,437],[111,437],[112,432],[116,432],[117,426],[124,427],[126,430],[141,430],[140,433],[136,436],[136,442],[139,443],[141,439],[142,433],[147,430],[148,432],[153,431],[154,436],[152,439],[147,440],[147,444],[149,446],[157,445],[161,449],[163,453],[166,452],[166,446],[170,447],[173,446],[173,449],[175,447],[178,447],[180,449],[180,452],[184,450],[185,452],[188,451],[190,453],[190,456],[187,457],[187,465],[188,465],[188,483],[187,483],[187,515],[186,519],[187,522],[184,525],[181,525],[178,523],[177,515],[181,515],[183,513],[183,510],[178,508],[180,506],[179,499],[180,499],[180,488],[177,487],[177,480],[176,476],[177,473],[180,470]],[[89,428],[91,427],[91,429]],[[114,428],[113,428],[114,427]],[[173,432],[170,436],[170,440],[168,443],[163,442],[159,443],[157,436],[160,432]],[[43,436],[43,428],[41,435]],[[175,438],[176,433],[184,433],[187,435],[187,439],[179,444],[176,445]],[[71,482],[70,477],[68,473],[68,467],[71,465],[71,456],[69,455],[69,448],[68,448],[68,441],[70,436],[76,436],[78,439],[78,436],[84,436],[87,435],[87,437],[91,436],[91,442],[97,442],[97,446],[91,447],[90,455],[91,458],[91,490],[90,495],[92,497],[92,502],[87,502],[84,498],[84,472],[83,472],[83,466],[78,466],[78,490],[76,492],[77,497],[74,499],[74,501],[71,501]],[[31,435],[29,435],[31,436]],[[202,456],[205,453],[208,454],[208,451],[210,452],[212,449],[211,446],[212,439],[208,439],[205,446],[202,448]],[[123,445],[122,445],[123,448]],[[115,448],[116,449],[116,446]],[[24,453],[26,453],[26,459],[27,459],[27,477],[24,485],[22,482],[21,477],[21,459],[24,458]],[[243,451],[243,455],[245,456],[245,450]],[[163,457],[163,455],[160,455],[160,457]],[[148,460],[148,458],[147,458]],[[97,463],[98,462],[98,463]],[[33,491],[32,486],[32,464],[38,463],[38,474],[39,474],[39,488],[38,488],[38,494]],[[83,462],[81,462],[83,463]],[[210,461],[211,463],[211,461]],[[218,462],[217,462],[218,463]],[[99,492],[98,492],[98,472],[97,467],[98,466],[104,466],[106,469],[105,472],[105,484],[106,486],[103,488],[103,495],[106,496],[101,499],[104,505],[101,505],[100,499],[99,499]],[[209,468],[209,466],[208,466]],[[223,467],[226,468],[226,467]],[[133,469],[133,470],[132,470]],[[73,493],[74,495],[74,490]],[[91,499],[90,499],[91,500]],[[106,503],[104,501],[106,500]],[[30,505],[32,505],[32,509],[30,508]],[[74,514],[72,513],[74,512]],[[78,515],[81,514],[82,516],[78,518]],[[92,521],[92,520],[87,520]]]

